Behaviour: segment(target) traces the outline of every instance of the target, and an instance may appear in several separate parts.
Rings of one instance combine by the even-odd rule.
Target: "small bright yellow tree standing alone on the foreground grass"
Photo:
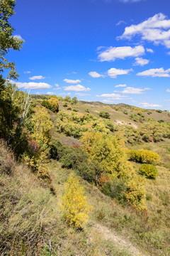
[[[89,220],[92,207],[88,205],[84,188],[79,184],[79,178],[70,174],[65,184],[64,196],[62,196],[62,215],[64,219],[76,228],[82,228]]]

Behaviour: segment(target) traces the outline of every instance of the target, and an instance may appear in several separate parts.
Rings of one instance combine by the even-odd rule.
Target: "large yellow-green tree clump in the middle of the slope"
[[[120,182],[120,195],[124,193],[128,203],[131,203],[137,210],[143,210],[145,208],[145,178],[138,175],[132,168],[123,140],[101,132],[88,132],[84,134],[81,142],[82,148],[89,154],[91,160],[100,164],[101,174],[111,178],[111,181],[103,184],[101,190],[110,191],[107,194],[114,195],[113,191],[116,190],[114,180],[119,179],[122,182]],[[116,197],[118,198],[118,195]],[[122,196],[120,198],[123,199]]]

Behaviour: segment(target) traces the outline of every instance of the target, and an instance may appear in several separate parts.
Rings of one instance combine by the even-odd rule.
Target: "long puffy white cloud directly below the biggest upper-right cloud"
[[[99,61],[114,61],[116,58],[125,59],[127,57],[137,57],[145,53],[143,46],[123,46],[123,47],[109,47],[106,50],[98,53]]]

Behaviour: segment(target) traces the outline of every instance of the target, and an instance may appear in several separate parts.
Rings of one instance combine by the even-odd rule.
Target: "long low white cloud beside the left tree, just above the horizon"
[[[48,89],[52,87],[46,82],[15,82],[13,80],[9,80],[9,82],[15,84],[18,88],[23,89]]]

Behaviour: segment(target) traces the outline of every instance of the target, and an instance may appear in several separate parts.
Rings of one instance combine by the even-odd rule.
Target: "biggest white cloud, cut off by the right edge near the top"
[[[126,27],[118,39],[131,39],[133,36],[141,36],[142,40],[170,48],[170,19],[166,19],[164,14],[155,14],[138,25]]]

